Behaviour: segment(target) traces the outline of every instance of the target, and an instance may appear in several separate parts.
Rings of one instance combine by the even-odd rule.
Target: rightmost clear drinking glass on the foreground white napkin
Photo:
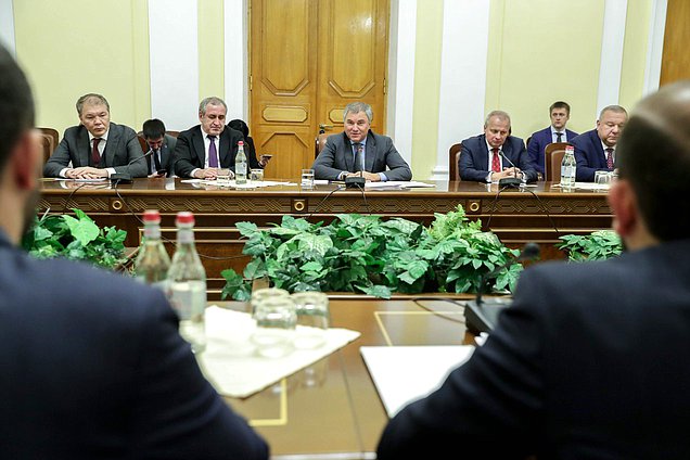
[[[329,297],[322,292],[295,292],[292,294],[297,314],[295,348],[318,348],[325,343],[329,329]]]

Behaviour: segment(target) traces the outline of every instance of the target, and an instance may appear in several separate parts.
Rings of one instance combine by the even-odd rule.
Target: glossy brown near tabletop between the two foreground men
[[[267,439],[272,458],[375,459],[388,416],[359,348],[473,344],[459,305],[463,298],[332,297],[331,325],[360,332],[357,340],[248,398],[226,400]],[[436,457],[432,448],[429,458]]]

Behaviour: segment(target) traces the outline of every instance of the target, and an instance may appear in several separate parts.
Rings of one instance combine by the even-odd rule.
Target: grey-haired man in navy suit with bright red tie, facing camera
[[[522,139],[510,136],[510,115],[502,111],[489,113],[484,133],[462,141],[458,170],[462,180],[497,182],[509,177],[537,180]]]

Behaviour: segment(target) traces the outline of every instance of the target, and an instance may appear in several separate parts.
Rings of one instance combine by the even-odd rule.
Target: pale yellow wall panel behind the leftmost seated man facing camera
[[[141,126],[151,105],[145,0],[14,1],[14,22],[39,126],[77,124],[87,92],[105,95],[114,122]]]

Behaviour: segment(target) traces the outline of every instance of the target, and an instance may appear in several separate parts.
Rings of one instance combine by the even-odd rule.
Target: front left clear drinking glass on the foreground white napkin
[[[297,315],[290,296],[270,296],[256,303],[253,315],[256,329],[252,343],[265,358],[282,358],[294,349]]]

